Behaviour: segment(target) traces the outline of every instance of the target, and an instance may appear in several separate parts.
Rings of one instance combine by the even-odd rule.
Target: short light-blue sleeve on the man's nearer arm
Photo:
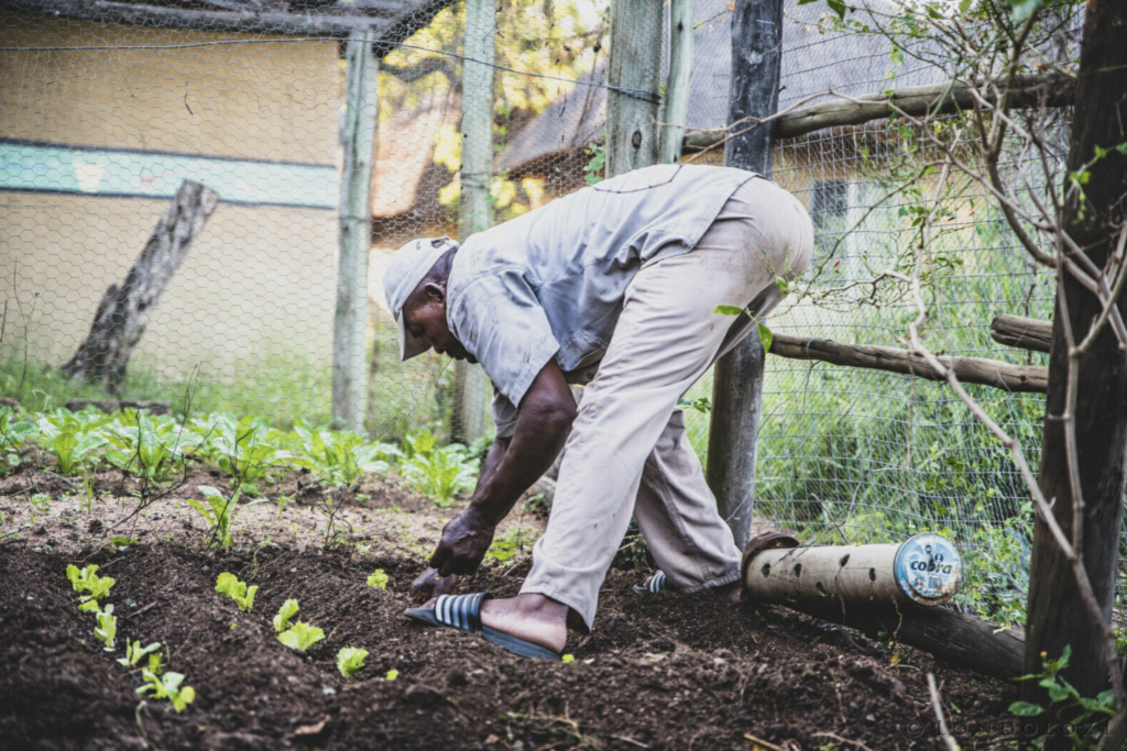
[[[518,408],[560,348],[532,287],[517,269],[505,269],[468,284],[455,303],[454,336],[481,364],[500,395]],[[495,420],[496,404],[495,399]]]

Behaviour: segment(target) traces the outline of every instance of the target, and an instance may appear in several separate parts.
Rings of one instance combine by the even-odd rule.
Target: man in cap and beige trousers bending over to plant
[[[755,328],[810,262],[802,205],[743,170],[662,164],[584,188],[470,236],[392,257],[402,359],[480,363],[497,438],[469,508],[443,529],[408,615],[558,658],[589,631],[631,516],[665,585],[738,600],[740,551],[685,437],[677,400]],[[719,305],[747,310],[738,318]],[[754,316],[754,318],[753,318]],[[586,384],[576,409],[568,384]],[[521,593],[451,596],[498,522],[567,442]]]

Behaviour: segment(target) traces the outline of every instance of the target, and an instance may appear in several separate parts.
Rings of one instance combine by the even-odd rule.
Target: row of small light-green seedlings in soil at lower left
[[[109,594],[114,580],[110,576],[99,576],[98,566],[95,564],[81,570],[71,564],[66,566],[66,578],[71,582],[71,588],[79,592],[81,605],[78,609],[82,613],[92,613],[95,616],[97,625],[94,635],[103,643],[106,652],[116,651],[117,616],[114,615],[114,606],[106,604],[103,607],[99,602]],[[185,707],[195,701],[196,690],[184,685],[183,673],[165,670],[159,650],[160,642],[141,646],[140,640],[131,642],[126,638],[125,656],[118,658],[117,663],[132,672],[137,669],[141,659],[148,656],[147,664],[141,667],[143,682],[136,692],[158,700],[168,699],[177,713],[184,712]]]

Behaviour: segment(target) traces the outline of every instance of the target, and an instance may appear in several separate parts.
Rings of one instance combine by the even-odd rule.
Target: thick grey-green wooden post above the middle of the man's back
[[[606,177],[658,163],[662,3],[611,0]]]

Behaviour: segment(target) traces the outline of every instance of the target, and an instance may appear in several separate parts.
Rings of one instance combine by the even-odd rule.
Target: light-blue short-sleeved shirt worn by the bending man
[[[646,263],[689,252],[754,175],[659,164],[558,198],[467,239],[454,254],[446,319],[494,383],[498,437],[548,360],[587,383]]]

